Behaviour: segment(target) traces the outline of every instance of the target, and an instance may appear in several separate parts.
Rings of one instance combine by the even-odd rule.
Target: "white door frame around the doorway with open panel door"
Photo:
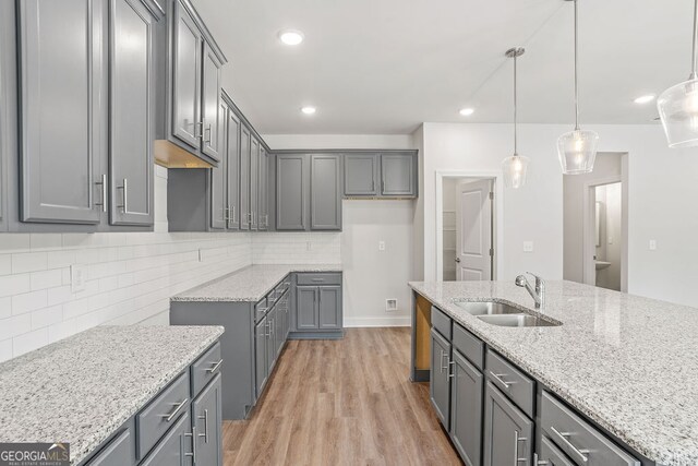
[[[436,255],[436,280],[444,279],[444,178],[481,178],[490,179],[494,183],[494,212],[493,212],[493,238],[494,262],[492,276],[500,279],[500,271],[504,270],[504,183],[501,171],[493,170],[436,170],[436,241],[434,253]]]

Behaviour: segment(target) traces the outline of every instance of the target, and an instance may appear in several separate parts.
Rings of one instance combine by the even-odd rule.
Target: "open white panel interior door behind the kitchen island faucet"
[[[462,181],[456,187],[456,279],[490,280],[492,244],[492,180]]]

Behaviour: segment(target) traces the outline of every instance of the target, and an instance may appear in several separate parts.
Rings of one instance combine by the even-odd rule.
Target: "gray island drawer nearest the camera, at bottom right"
[[[575,462],[588,466],[640,465],[639,461],[547,392],[543,392],[540,415],[545,435]]]

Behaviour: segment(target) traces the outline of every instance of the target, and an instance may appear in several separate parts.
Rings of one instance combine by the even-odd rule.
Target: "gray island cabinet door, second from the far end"
[[[450,379],[450,439],[467,466],[482,464],[483,375],[454,349]]]

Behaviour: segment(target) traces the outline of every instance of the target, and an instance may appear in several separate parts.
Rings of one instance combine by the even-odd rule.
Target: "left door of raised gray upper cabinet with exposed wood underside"
[[[194,20],[174,2],[172,49],[172,134],[198,151],[201,120],[201,63],[203,37]],[[218,108],[216,106],[216,108]]]

